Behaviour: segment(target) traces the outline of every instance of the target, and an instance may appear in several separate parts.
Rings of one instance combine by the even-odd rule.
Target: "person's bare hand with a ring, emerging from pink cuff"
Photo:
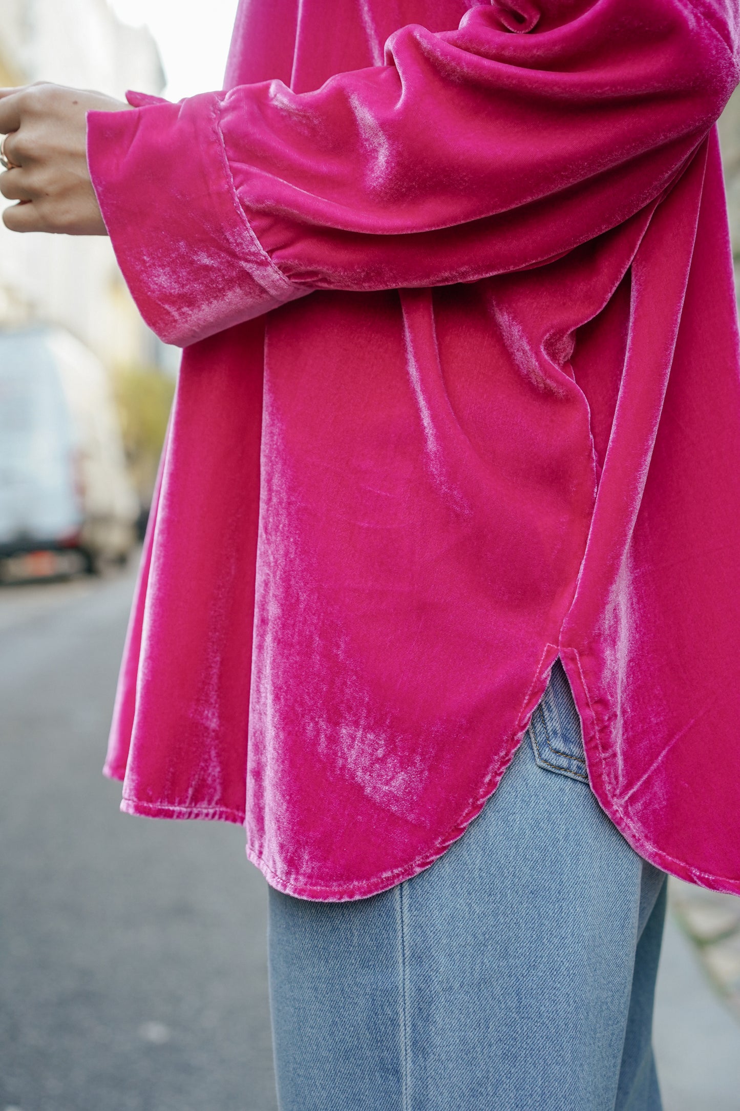
[[[11,231],[107,234],[88,172],[85,114],[128,108],[101,92],[45,82],[0,89],[3,154],[12,163],[0,174],[0,193],[18,201],[4,209],[4,226]]]

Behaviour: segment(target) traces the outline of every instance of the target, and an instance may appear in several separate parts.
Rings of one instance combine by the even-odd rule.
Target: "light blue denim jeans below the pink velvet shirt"
[[[588,787],[556,664],[498,790],[419,875],[270,893],[281,1111],[660,1111],[665,874]]]

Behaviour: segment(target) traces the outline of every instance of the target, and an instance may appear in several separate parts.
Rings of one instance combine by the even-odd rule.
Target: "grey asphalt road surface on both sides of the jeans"
[[[275,1111],[242,831],[124,817],[100,775],[132,585],[0,590],[0,1111]],[[656,1042],[666,1111],[739,1111],[740,1024],[675,925]]]

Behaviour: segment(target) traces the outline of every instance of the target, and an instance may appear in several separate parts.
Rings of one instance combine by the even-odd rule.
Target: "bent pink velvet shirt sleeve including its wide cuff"
[[[385,64],[92,112],[91,177],[146,322],[187,344],[315,289],[472,282],[620,223],[737,83],[721,0],[596,0],[553,30],[478,4]]]

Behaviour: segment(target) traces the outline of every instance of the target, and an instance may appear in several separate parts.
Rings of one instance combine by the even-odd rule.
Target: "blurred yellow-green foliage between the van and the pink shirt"
[[[174,384],[168,374],[148,367],[124,367],[113,376],[123,449],[142,506],[152,499]]]

